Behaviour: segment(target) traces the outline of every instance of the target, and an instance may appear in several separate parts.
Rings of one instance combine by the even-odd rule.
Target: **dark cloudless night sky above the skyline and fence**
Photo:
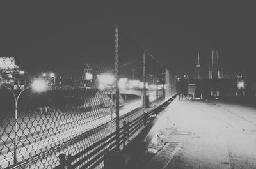
[[[79,67],[84,58],[93,64],[104,63],[107,68],[113,64],[108,58],[113,58],[115,21],[103,4],[175,74],[195,76],[198,48],[204,76],[212,49],[219,50],[225,73],[249,76],[255,72],[253,4],[242,1],[54,2],[1,2],[0,55],[15,56],[28,71],[63,73],[69,71],[67,67]],[[125,58],[132,61],[141,51],[124,27],[120,28],[120,60],[128,62]]]

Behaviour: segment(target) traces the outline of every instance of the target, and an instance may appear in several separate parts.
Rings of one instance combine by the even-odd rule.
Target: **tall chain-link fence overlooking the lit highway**
[[[103,168],[104,153],[122,149],[147,112],[178,92],[172,73],[124,26],[89,11],[86,24],[40,34],[20,66],[0,59],[0,168],[58,168],[63,154],[72,168]]]

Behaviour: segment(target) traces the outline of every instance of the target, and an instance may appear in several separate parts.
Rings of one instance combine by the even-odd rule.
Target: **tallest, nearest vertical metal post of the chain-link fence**
[[[116,77],[116,152],[119,152],[119,54],[118,54],[118,26],[115,27],[115,77]]]

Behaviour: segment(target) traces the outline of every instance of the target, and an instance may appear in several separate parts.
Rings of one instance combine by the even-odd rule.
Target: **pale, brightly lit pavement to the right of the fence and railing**
[[[166,169],[256,168],[256,108],[221,102],[176,101],[161,133],[179,142]]]

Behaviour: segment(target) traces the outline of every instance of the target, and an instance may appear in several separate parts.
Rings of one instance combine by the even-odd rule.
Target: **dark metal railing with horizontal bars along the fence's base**
[[[171,98],[171,100],[173,100],[173,98],[174,96]],[[123,126],[122,128],[120,128],[118,134],[118,145],[121,147],[121,150],[124,149],[125,145],[127,145],[127,143],[129,143],[132,140],[132,138],[135,138],[138,135],[138,133],[140,133],[140,131],[144,129],[147,126],[147,124],[153,120],[154,117],[156,117],[154,115],[159,114],[159,112],[161,112],[164,109],[164,107],[168,105],[168,103],[170,103],[169,100],[165,101],[158,107],[149,110],[148,112],[144,112],[132,121],[123,121]],[[106,126],[108,126],[108,124],[106,124]],[[106,158],[104,156],[106,155],[106,153],[108,153],[110,150],[115,150],[115,136],[116,133],[113,132],[110,135],[103,138],[102,140],[100,140],[99,142],[94,143],[90,147],[87,147],[86,149],[77,153],[74,156],[71,156],[70,154],[60,154],[60,165],[58,165],[55,169],[76,168],[77,166],[80,166],[82,168],[95,168],[99,166],[100,163],[104,162],[104,158]],[[138,143],[138,145],[140,144]],[[129,146],[129,148],[133,149],[134,151],[135,147]],[[90,150],[93,151],[90,152],[89,154],[86,154]],[[86,156],[84,156],[84,154],[86,154]],[[85,161],[88,162],[84,163]],[[118,162],[115,159],[115,166],[116,163]]]

